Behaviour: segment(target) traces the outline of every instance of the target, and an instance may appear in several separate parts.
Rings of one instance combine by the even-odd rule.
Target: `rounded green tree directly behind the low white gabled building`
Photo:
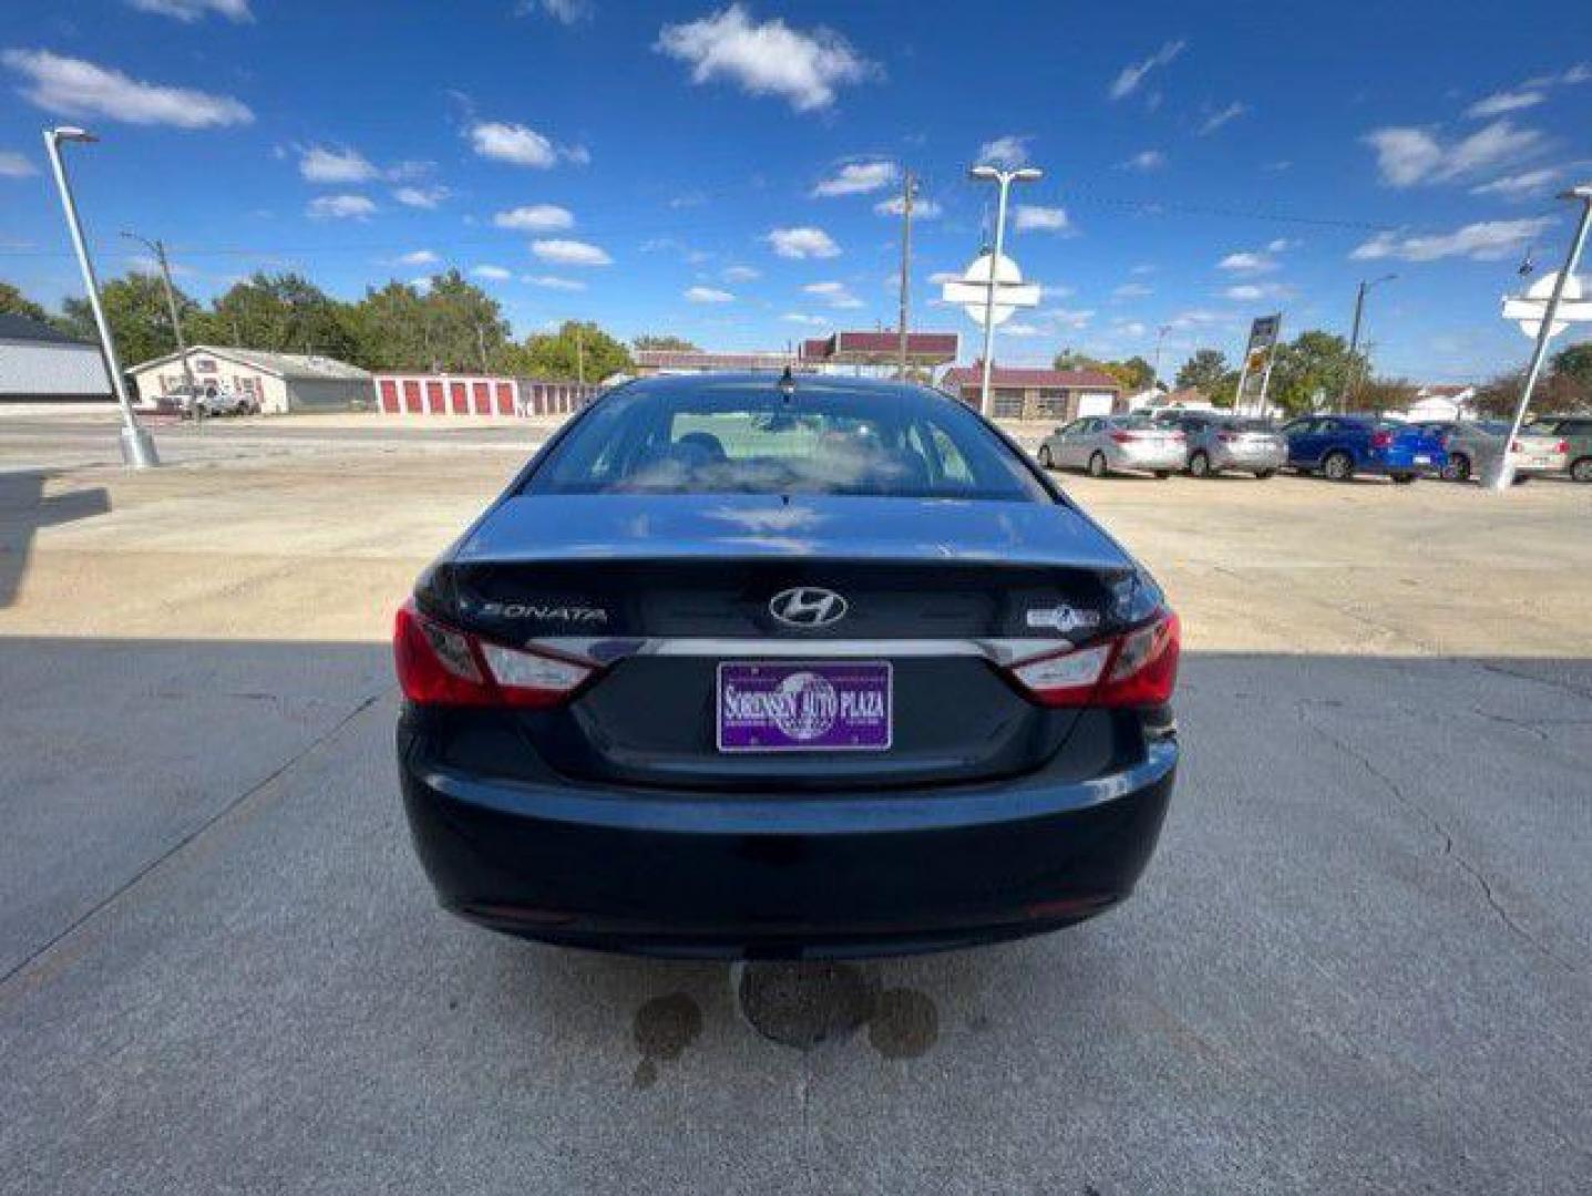
[[[193,323],[193,339],[213,345],[320,353],[344,361],[357,348],[345,305],[298,274],[255,274]]]

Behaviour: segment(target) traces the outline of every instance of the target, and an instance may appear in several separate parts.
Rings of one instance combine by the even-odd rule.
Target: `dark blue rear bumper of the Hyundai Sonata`
[[[484,781],[400,728],[409,825],[447,910],[696,957],[931,951],[1083,921],[1148,864],[1176,759],[1165,738],[1087,781],[780,798]]]

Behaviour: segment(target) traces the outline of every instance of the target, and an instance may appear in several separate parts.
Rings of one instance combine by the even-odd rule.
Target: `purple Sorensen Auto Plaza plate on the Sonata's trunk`
[[[882,752],[890,662],[723,662],[715,709],[721,752]]]

